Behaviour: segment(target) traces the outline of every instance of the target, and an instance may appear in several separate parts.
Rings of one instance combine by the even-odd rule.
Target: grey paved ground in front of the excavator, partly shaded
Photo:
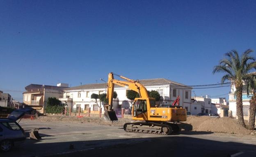
[[[122,128],[77,122],[40,122],[22,120],[27,130],[39,128],[42,139],[27,139],[4,157],[94,157],[174,156],[174,157],[254,157],[256,137],[205,132],[182,132],[181,135],[126,133]],[[72,149],[73,147],[73,149]]]

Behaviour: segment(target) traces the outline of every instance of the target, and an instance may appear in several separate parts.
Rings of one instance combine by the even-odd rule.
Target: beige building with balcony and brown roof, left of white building
[[[23,103],[30,106],[39,113],[44,113],[48,97],[63,97],[63,89],[68,86],[48,86],[41,84],[30,84],[25,87]]]

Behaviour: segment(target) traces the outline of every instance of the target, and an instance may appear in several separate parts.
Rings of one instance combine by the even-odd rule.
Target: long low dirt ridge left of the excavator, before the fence
[[[39,121],[62,121],[62,122],[74,122],[74,123],[93,123],[98,125],[106,126],[121,126],[123,124],[131,122],[131,119],[119,118],[118,122],[105,121],[103,118],[99,117],[69,117],[69,116],[40,116],[37,118]]]

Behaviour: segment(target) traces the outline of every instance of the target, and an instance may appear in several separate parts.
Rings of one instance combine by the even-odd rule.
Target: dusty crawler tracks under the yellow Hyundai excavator
[[[177,124],[162,122],[132,122],[123,125],[123,129],[130,133],[147,133],[158,135],[178,134],[180,128]]]

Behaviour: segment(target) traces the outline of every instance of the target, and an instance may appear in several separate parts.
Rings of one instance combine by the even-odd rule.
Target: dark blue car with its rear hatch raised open
[[[31,110],[30,108],[14,110],[7,118],[0,118],[0,150],[7,152],[13,146],[24,143],[25,131],[16,120]]]

